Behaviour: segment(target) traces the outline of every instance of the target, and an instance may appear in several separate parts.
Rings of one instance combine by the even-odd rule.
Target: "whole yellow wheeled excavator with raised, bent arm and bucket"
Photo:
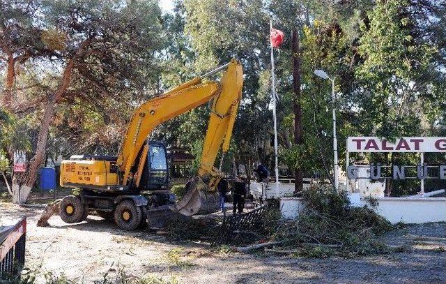
[[[224,70],[220,81],[204,81]],[[216,187],[222,173],[214,167],[222,149],[222,159],[229,149],[233,124],[242,98],[243,70],[232,59],[224,66],[196,77],[141,105],[133,114],[117,157],[71,156],[61,163],[60,184],[79,188],[79,195],[64,197],[59,216],[66,223],[84,221],[89,211],[114,217],[123,230],[135,230],[146,221],[159,227],[166,212],[192,216],[216,211]],[[194,107],[210,102],[210,119],[203,142],[197,176],[187,184],[180,202],[169,190],[167,150],[162,142],[149,141],[156,126]]]

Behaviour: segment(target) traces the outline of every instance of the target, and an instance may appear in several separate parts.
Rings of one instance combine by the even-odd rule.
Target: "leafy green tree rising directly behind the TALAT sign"
[[[423,98],[432,96],[431,68],[436,46],[415,40],[414,18],[405,15],[407,1],[378,1],[362,24],[356,70],[364,88],[359,104],[360,127],[382,137],[420,135]]]

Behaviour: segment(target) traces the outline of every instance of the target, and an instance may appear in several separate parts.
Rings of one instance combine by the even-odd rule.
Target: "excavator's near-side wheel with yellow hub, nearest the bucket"
[[[141,225],[143,211],[132,200],[123,200],[114,209],[114,221],[125,231],[134,231]]]

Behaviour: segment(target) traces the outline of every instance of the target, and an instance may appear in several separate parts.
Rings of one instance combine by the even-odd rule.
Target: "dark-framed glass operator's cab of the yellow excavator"
[[[148,189],[167,189],[169,186],[169,167],[167,150],[162,142],[148,142]]]

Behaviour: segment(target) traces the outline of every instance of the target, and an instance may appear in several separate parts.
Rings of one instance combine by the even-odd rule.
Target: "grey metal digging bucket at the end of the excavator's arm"
[[[188,183],[187,193],[175,204],[174,211],[184,216],[206,214],[218,211],[220,208],[219,194],[209,192],[207,185],[200,177],[195,177]]]

